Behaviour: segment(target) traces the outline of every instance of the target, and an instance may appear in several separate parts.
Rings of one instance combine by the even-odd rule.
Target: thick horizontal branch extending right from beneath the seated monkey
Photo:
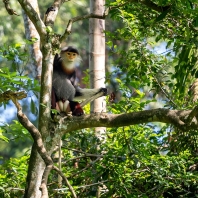
[[[197,128],[198,126],[195,123],[192,123],[190,126],[188,126],[184,122],[190,112],[191,110],[170,110],[159,108],[125,114],[95,113],[81,117],[72,117],[72,119],[63,118],[62,133],[83,128],[121,127],[150,122],[173,124],[181,130]]]

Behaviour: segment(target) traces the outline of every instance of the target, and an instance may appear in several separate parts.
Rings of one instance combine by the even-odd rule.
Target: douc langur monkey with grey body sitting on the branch
[[[89,99],[97,95],[105,96],[106,88],[81,89],[76,85],[75,65],[80,61],[79,52],[74,47],[65,47],[60,55],[56,54],[53,63],[52,109],[59,112],[72,112],[72,115],[83,115],[83,109],[75,100]]]

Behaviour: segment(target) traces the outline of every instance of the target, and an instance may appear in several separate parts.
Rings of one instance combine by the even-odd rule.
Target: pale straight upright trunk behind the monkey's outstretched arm
[[[102,15],[104,0],[90,0],[90,13]],[[89,70],[91,88],[105,87],[105,21],[102,19],[89,20]],[[106,101],[100,97],[91,103],[91,112],[106,112]],[[105,127],[95,128],[95,135],[100,143],[105,141]],[[96,152],[99,146],[96,147]],[[94,171],[93,171],[93,174]],[[93,181],[95,183],[97,181]],[[92,188],[96,197],[100,197],[100,187]]]

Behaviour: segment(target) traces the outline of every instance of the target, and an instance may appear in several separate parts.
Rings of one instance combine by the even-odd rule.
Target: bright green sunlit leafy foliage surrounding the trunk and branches
[[[108,27],[111,31],[106,31],[111,61],[106,81],[116,95],[115,102],[108,102],[108,112],[197,105],[189,92],[198,74],[197,2],[107,0],[106,6],[112,7],[114,20]],[[72,14],[76,15],[73,8]],[[75,32],[73,38],[77,37]],[[0,70],[0,91],[38,91],[37,84],[21,73],[19,63],[27,58],[21,45],[4,46],[0,52],[13,63],[12,71]],[[35,103],[31,104],[35,109]],[[0,129],[3,141],[8,141],[2,136],[8,128]],[[27,131],[17,133],[21,131],[17,121],[11,128],[17,137],[26,135]],[[62,170],[80,197],[96,197],[98,187],[101,197],[197,197],[197,130],[142,123],[107,129],[101,143],[94,131],[87,129],[66,134],[62,147]],[[53,158],[57,162],[56,152]],[[24,156],[1,165],[0,190],[5,197],[11,196],[10,189],[24,189],[27,159]],[[55,174],[50,175],[48,188],[51,197],[71,197],[66,184],[59,186]]]

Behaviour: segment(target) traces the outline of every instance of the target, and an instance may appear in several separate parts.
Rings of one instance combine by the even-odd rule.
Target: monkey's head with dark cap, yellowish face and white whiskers
[[[75,64],[81,60],[78,50],[72,46],[64,47],[60,56],[66,70],[74,70]]]

